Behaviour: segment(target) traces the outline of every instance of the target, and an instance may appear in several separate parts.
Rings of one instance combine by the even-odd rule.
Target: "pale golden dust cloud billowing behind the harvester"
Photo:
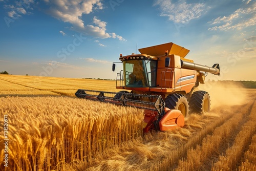
[[[209,93],[211,109],[222,105],[232,106],[246,103],[247,91],[242,84],[226,81],[207,81],[205,84],[200,84],[198,89]]]

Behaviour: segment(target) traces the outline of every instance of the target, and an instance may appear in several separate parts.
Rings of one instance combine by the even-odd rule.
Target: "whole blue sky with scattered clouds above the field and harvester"
[[[0,71],[115,79],[120,53],[174,42],[220,63],[208,79],[255,81],[255,11],[251,0],[0,0]]]

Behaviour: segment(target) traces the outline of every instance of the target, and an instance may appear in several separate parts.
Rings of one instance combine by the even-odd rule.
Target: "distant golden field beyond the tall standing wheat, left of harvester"
[[[0,97],[17,95],[75,97],[78,89],[118,92],[114,80],[0,75]]]

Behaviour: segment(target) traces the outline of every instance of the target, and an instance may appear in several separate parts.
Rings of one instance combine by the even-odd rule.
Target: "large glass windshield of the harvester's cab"
[[[156,63],[153,60],[123,61],[126,87],[156,87]]]

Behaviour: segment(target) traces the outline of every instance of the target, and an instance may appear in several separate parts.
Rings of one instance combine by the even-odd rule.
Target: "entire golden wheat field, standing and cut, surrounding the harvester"
[[[74,97],[118,92],[115,81],[0,75],[0,83],[10,139],[7,168],[1,121],[1,170],[256,170],[256,90],[215,86],[210,113],[143,135],[142,110]]]

